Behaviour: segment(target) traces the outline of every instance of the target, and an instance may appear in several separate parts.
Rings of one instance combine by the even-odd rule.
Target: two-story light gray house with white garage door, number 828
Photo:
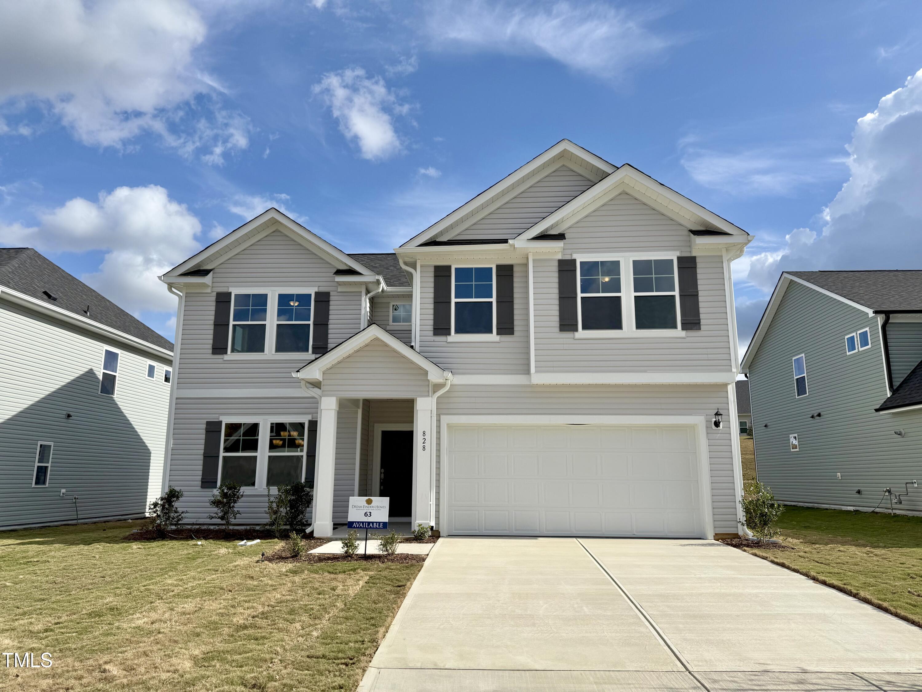
[[[164,487],[306,478],[443,534],[739,532],[730,262],[751,236],[563,140],[393,254],[269,209],[167,272],[182,292]],[[713,424],[721,412],[723,427]]]

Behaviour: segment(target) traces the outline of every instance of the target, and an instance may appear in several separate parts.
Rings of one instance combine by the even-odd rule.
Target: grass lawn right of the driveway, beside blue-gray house
[[[790,551],[751,550],[922,626],[922,518],[786,507]]]

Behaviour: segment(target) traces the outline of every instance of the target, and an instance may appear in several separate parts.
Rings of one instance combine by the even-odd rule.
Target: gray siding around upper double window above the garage
[[[664,252],[691,255],[685,226],[621,194],[566,229],[563,257]],[[702,328],[684,338],[575,339],[561,332],[556,259],[533,261],[535,370],[552,372],[729,372],[732,369],[724,262],[698,257]]]

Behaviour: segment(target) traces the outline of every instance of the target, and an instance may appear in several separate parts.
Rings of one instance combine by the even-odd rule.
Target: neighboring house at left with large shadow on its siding
[[[171,342],[30,247],[0,248],[0,331],[0,529],[143,516]]]

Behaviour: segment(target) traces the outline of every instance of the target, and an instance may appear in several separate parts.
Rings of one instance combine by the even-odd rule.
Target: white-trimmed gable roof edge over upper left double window
[[[332,264],[337,269],[352,269],[353,271],[373,275],[374,272],[365,267],[358,260],[349,257],[336,245],[327,243],[319,235],[304,228],[298,221],[294,221],[278,209],[266,209],[262,214],[247,221],[242,226],[234,229],[224,237],[195,253],[176,267],[166,272],[160,280],[169,283],[171,278],[186,275],[195,269],[210,269],[217,267],[221,262],[233,257],[241,250],[253,245],[267,233],[282,231],[293,240],[301,243],[320,257]]]

